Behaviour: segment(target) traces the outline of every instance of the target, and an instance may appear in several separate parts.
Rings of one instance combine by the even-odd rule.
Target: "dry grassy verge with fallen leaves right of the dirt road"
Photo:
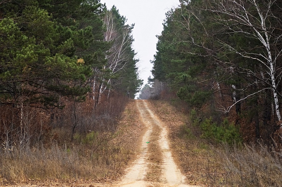
[[[170,129],[172,149],[187,181],[208,186],[282,186],[282,152],[258,145],[217,145],[200,138],[188,114],[167,101],[150,101]]]

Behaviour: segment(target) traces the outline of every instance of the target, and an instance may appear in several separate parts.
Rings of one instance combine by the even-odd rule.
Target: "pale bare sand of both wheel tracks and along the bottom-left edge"
[[[142,123],[146,127],[146,131],[140,138],[140,141],[142,142],[137,154],[137,159],[132,163],[131,167],[126,169],[126,175],[122,177],[122,180],[119,182],[115,181],[106,184],[93,183],[91,185],[74,184],[72,186],[90,185],[93,187],[197,187],[185,184],[185,177],[181,174],[179,168],[173,160],[172,153],[170,151],[170,143],[168,141],[168,130],[166,129],[165,125],[149,109],[145,100],[136,100],[135,104],[140,113],[140,115],[136,117],[139,117],[140,123]],[[154,130],[156,131],[156,129],[160,129],[160,132],[154,132]],[[156,138],[154,136],[159,137]],[[161,153],[161,158],[159,159],[161,160],[161,162],[158,163],[161,166],[157,167],[160,171],[156,173],[160,176],[156,177],[157,181],[154,182],[151,182],[150,177],[148,176],[148,173],[152,173],[151,166],[154,164],[148,159],[148,157],[150,156],[150,154],[152,154],[154,150],[150,150],[148,144],[146,144],[146,142],[149,141],[151,138],[156,140],[156,142],[151,142],[152,144],[156,144],[156,146],[152,147],[156,147]],[[38,185],[31,184],[17,186],[37,187]]]

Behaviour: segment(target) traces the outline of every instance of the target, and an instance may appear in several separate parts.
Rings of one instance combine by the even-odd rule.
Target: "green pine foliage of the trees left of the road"
[[[59,106],[60,96],[83,101],[92,87],[89,83],[93,75],[98,78],[101,72],[114,73],[106,67],[111,43],[103,41],[103,17],[107,10],[100,1],[6,1],[1,3],[0,10],[2,105],[29,103],[54,107]],[[122,30],[126,19],[117,9],[113,12]],[[131,47],[133,38],[127,37],[131,37]],[[135,94],[141,82],[134,56],[131,50],[129,65],[122,67],[128,77],[118,74],[114,78],[119,82],[132,80],[120,87],[130,87]],[[119,86],[115,89],[122,90]],[[123,90],[126,94],[127,90]]]

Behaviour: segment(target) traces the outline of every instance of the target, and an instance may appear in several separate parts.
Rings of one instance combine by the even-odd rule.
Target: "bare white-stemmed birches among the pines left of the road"
[[[122,80],[121,75],[128,71],[127,68],[131,66],[129,64],[133,63],[135,66],[137,62],[131,47],[134,41],[131,34],[134,25],[126,24],[126,18],[119,14],[115,6],[105,13],[104,27],[104,41],[109,42],[111,46],[106,52],[107,63],[100,70],[100,79],[94,84],[97,87],[96,105],[105,91],[109,97],[112,87],[120,83],[114,80]]]

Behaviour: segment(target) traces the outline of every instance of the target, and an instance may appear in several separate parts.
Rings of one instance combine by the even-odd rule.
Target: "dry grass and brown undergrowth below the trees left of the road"
[[[29,120],[25,124],[28,131],[20,131],[21,126],[12,124],[19,124],[13,120],[17,119],[15,116],[5,118],[3,114],[0,120],[0,185],[1,182],[29,180],[113,179],[119,175],[132,154],[126,149],[126,142],[114,141],[120,133],[117,124],[128,98],[118,94],[102,97],[97,109],[93,108],[90,97],[84,103],[62,102],[64,109],[53,109],[49,115],[34,109],[34,116],[42,114],[46,120],[41,120],[43,125],[39,117],[39,120],[33,118],[32,123]],[[1,109],[7,113],[5,108]],[[30,111],[25,115],[29,119]],[[10,129],[3,126],[2,121]],[[45,131],[40,130],[42,126],[46,126]],[[31,129],[39,129],[40,137]],[[26,139],[21,134],[34,143],[21,146]]]

